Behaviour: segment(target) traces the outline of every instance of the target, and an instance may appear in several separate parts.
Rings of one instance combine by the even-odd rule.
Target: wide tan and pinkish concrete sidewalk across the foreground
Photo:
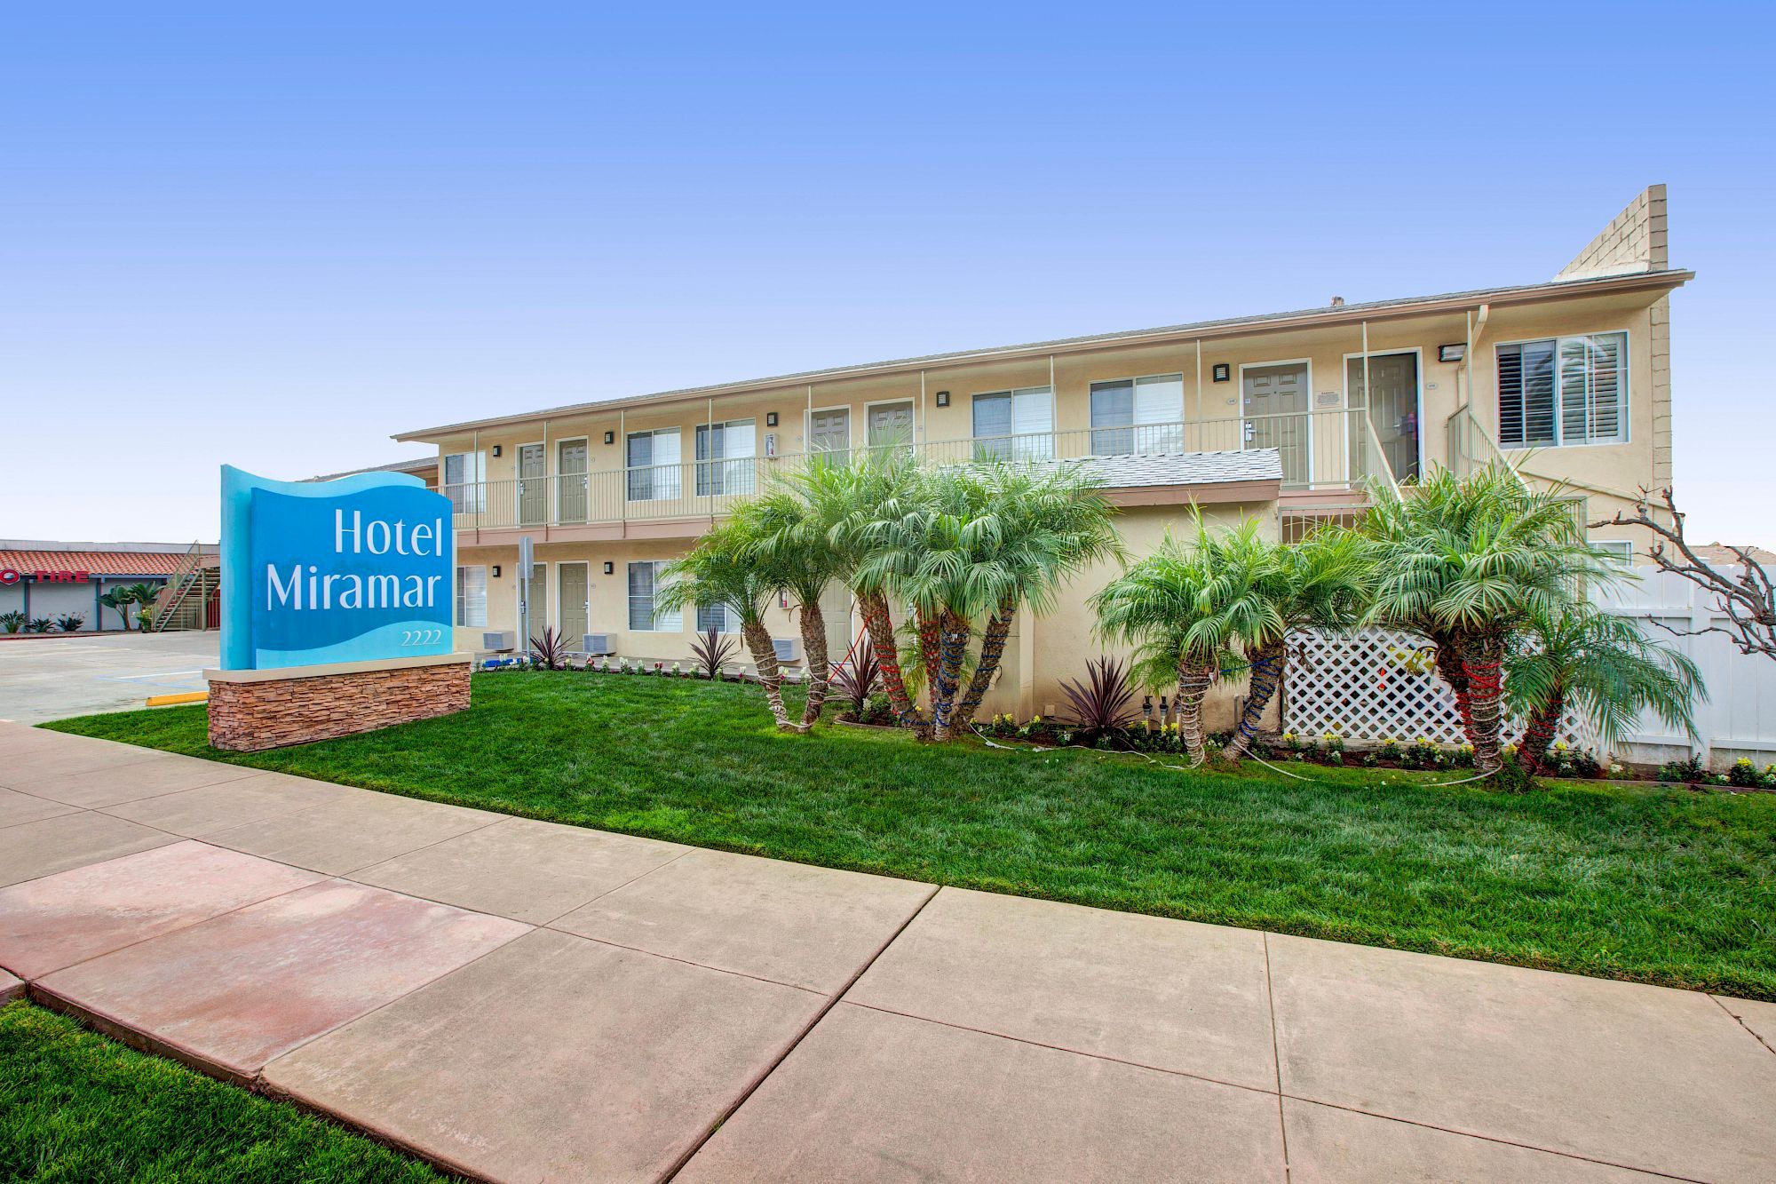
[[[1776,1180],[1769,1003],[11,725],[0,786],[34,999],[469,1175]]]

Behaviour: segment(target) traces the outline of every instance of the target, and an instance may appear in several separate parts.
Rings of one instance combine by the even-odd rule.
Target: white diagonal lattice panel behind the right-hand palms
[[[1392,629],[1291,635],[1282,731],[1302,738],[1337,732],[1357,745],[1465,740],[1455,692],[1437,677],[1431,651]],[[1504,734],[1515,740],[1522,725],[1508,718]],[[1572,715],[1556,738],[1574,748],[1597,747],[1595,731]]]

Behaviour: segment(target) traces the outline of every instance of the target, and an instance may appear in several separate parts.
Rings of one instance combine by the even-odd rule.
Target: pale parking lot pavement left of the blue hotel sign
[[[0,642],[0,720],[41,724],[206,690],[220,633],[52,635]]]

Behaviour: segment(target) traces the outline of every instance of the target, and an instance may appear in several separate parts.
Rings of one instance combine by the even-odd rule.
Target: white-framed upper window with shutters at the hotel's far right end
[[[1629,334],[1497,347],[1499,444],[1552,448],[1629,437]]]

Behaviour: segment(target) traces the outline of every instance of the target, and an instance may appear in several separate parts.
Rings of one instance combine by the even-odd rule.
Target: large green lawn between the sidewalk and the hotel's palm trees
[[[57,724],[197,756],[204,709]],[[263,768],[1106,908],[1776,999],[1776,795],[778,736],[757,688],[490,674],[465,715]]]

